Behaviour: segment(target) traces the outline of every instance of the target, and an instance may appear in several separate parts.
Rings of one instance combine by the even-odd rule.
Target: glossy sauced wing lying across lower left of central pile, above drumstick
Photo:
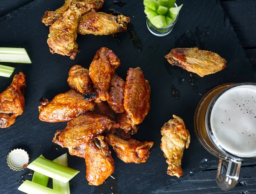
[[[67,123],[64,130],[56,131],[53,142],[68,148],[71,155],[84,157],[86,144],[105,130],[118,128],[110,118],[94,113],[85,113]]]

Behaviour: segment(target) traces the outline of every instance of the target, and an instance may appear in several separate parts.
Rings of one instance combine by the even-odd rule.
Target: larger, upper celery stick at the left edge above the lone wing
[[[0,62],[31,63],[25,48],[0,48]]]

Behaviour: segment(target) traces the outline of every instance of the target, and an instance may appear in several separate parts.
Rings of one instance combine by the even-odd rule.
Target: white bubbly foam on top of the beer
[[[210,117],[212,133],[226,151],[256,156],[256,86],[236,86],[216,100]]]

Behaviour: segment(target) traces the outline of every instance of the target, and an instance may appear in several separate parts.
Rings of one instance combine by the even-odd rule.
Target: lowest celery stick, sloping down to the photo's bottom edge
[[[27,194],[63,194],[59,191],[54,191],[51,188],[33,183],[29,180],[25,180],[25,182],[19,186],[18,190]]]

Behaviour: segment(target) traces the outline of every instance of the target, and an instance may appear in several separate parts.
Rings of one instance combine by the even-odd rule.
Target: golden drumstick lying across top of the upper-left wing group
[[[47,43],[52,54],[58,53],[70,56],[70,59],[75,59],[78,52],[76,37],[79,18],[82,14],[91,11],[93,8],[102,6],[102,1],[88,2],[81,8],[78,8],[78,3],[70,3],[70,8],[49,28],[50,33]]]

